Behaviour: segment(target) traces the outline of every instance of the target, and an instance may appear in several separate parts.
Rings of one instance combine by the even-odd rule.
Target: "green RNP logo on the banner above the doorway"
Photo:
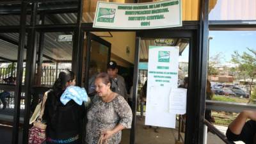
[[[113,8],[99,8],[99,15],[97,22],[114,22],[116,9]]]

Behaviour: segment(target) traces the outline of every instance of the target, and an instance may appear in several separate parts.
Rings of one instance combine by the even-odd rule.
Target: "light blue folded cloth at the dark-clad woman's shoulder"
[[[66,105],[70,100],[74,100],[81,106],[83,102],[88,101],[88,95],[84,88],[80,88],[79,86],[68,86],[65,92],[62,93],[60,101],[62,104]]]

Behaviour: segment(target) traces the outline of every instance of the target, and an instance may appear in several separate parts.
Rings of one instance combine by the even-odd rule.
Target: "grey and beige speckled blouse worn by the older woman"
[[[132,123],[131,108],[124,97],[118,94],[111,102],[103,102],[95,95],[87,117],[86,143],[88,144],[97,144],[101,131],[111,130],[118,124],[129,129]],[[121,137],[122,132],[116,132],[108,139],[108,144],[120,143]]]

